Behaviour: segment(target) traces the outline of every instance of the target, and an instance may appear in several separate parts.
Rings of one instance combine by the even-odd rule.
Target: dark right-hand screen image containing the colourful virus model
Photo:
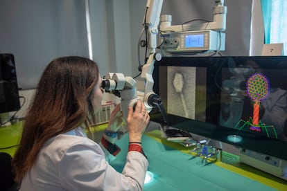
[[[287,70],[259,64],[222,70],[220,125],[286,140]]]

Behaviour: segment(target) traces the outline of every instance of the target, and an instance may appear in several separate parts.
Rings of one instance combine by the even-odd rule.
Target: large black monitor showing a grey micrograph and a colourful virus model
[[[163,57],[153,78],[168,125],[287,159],[287,57]]]

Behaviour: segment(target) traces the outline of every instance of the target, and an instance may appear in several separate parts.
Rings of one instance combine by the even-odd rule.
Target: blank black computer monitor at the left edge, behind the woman
[[[20,109],[15,59],[12,54],[0,54],[0,113]]]

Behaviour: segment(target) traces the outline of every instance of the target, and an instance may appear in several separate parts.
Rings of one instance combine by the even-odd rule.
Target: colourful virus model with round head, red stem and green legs
[[[236,123],[235,128],[241,130],[247,125],[247,127],[250,127],[250,130],[252,131],[260,132],[261,129],[263,129],[263,131],[266,131],[268,137],[270,137],[268,128],[271,128],[275,138],[278,138],[273,125],[266,125],[265,123],[261,122],[261,120],[259,120],[260,103],[268,97],[269,89],[270,83],[265,75],[262,73],[254,73],[250,76],[250,78],[247,80],[247,96],[253,102],[253,118],[250,117],[250,119],[247,121],[241,119]],[[242,123],[243,125],[238,127]]]

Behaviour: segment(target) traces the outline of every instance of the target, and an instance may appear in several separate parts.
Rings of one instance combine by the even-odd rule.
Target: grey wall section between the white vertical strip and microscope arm
[[[102,76],[107,72],[132,75],[129,2],[89,1],[94,60],[98,62]]]

